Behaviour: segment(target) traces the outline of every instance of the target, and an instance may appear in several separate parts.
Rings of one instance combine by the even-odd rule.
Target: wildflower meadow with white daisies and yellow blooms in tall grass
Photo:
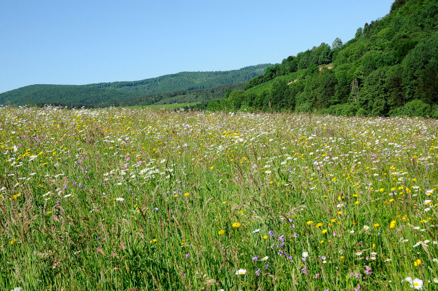
[[[437,290],[437,134],[0,107],[0,290]]]

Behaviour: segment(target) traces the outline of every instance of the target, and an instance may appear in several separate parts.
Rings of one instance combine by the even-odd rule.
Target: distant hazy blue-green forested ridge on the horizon
[[[140,81],[117,81],[80,86],[31,85],[0,94],[0,104],[112,104],[152,94],[242,84],[249,79],[263,75],[268,66],[271,64],[247,66],[233,71],[182,72]]]

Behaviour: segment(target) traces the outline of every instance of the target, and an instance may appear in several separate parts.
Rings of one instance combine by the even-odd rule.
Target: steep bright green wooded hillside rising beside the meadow
[[[208,108],[438,117],[437,103],[438,1],[396,0],[352,40],[289,56]]]

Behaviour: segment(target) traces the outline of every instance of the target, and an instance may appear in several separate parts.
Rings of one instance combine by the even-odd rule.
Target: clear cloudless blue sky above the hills
[[[394,0],[0,0],[0,92],[227,71],[355,36]]]

